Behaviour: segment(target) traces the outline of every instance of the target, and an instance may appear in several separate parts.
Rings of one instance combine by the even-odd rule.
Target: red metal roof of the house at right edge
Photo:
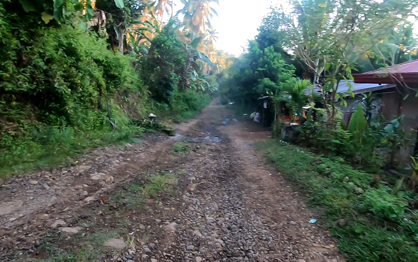
[[[418,59],[364,74],[353,74],[355,83],[414,84],[418,83]]]

